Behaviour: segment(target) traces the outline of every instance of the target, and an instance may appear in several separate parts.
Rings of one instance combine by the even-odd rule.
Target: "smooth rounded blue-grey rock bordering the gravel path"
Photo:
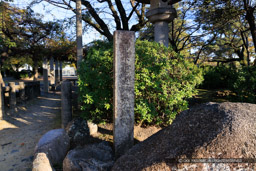
[[[48,131],[39,140],[36,153],[45,153],[51,164],[62,163],[69,150],[69,137],[64,129]]]

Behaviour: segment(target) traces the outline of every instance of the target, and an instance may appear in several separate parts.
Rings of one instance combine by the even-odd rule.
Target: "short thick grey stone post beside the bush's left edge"
[[[61,84],[61,127],[65,128],[72,120],[72,91],[71,83],[66,80]]]

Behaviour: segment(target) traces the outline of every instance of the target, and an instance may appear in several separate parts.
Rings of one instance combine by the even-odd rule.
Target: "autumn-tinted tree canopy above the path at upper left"
[[[27,74],[18,69],[28,64],[36,79],[44,58],[74,61],[75,41],[64,32],[61,21],[43,21],[31,8],[4,1],[0,2],[0,18],[0,71],[11,70],[12,76],[21,78]]]

